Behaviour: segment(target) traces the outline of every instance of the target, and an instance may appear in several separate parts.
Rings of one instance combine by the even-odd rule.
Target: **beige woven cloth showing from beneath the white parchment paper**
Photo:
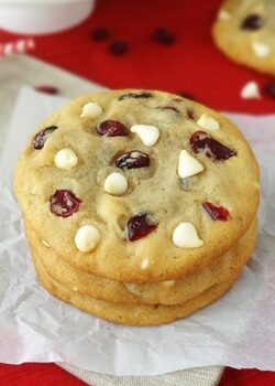
[[[35,74],[35,76],[34,76]],[[8,133],[9,120],[18,90],[22,85],[54,85],[73,98],[102,87],[26,55],[14,55],[0,61],[0,153]],[[78,378],[92,386],[213,386],[223,367],[209,366],[168,373],[157,376],[110,376],[81,369],[69,363],[58,363]]]

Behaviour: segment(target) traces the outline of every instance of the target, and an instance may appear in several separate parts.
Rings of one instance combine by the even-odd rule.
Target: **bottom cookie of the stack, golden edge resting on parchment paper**
[[[239,270],[235,271],[227,281],[210,287],[208,290],[193,299],[187,300],[186,302],[183,302],[182,304],[144,305],[112,303],[80,294],[77,291],[72,291],[67,287],[51,278],[42,261],[37,257],[33,256],[35,268],[42,283],[54,297],[107,321],[139,326],[168,323],[176,319],[185,318],[211,303],[230,289],[239,277],[243,265],[246,262],[246,259],[248,258],[245,257],[242,259],[242,261],[240,261]]]

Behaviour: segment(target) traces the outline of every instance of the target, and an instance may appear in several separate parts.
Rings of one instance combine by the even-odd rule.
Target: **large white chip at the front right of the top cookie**
[[[204,242],[191,223],[180,223],[173,233],[173,243],[179,248],[199,248]]]

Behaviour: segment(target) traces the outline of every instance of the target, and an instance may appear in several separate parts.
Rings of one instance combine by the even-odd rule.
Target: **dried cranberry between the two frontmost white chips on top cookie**
[[[152,221],[150,213],[140,213],[131,217],[127,224],[127,238],[135,242],[155,230],[157,224]]]

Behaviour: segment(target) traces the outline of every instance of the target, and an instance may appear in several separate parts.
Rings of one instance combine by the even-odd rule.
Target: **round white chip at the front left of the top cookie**
[[[77,249],[82,253],[94,250],[100,242],[100,232],[94,225],[81,226],[75,236]]]

